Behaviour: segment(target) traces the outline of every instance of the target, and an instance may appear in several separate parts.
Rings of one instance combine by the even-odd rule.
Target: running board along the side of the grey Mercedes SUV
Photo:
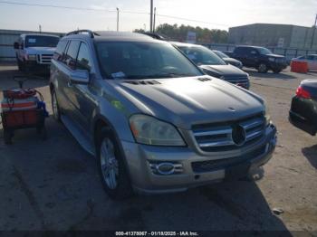
[[[91,156],[95,156],[95,149],[91,145],[90,139],[84,135],[81,128],[72,122],[71,119],[68,119],[67,116],[62,115],[61,120],[63,125],[71,132],[72,137],[74,137],[77,142],[82,146],[82,148],[87,151]]]

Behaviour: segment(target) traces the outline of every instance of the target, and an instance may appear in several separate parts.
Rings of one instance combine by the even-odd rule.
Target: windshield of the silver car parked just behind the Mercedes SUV
[[[179,46],[182,52],[184,52],[189,59],[197,63],[197,65],[226,65],[221,58],[219,58],[215,52],[208,50],[201,46]]]

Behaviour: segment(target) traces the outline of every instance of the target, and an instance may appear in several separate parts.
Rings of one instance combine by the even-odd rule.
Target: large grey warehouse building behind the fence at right
[[[228,43],[265,47],[317,49],[317,30],[293,24],[247,24],[229,28]],[[312,46],[312,47],[311,47]]]

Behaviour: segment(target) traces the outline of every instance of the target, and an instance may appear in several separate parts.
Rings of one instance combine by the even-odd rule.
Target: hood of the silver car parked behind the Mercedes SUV
[[[245,71],[238,69],[233,65],[201,65],[199,66],[210,76],[225,76],[225,77],[239,77],[246,76]]]

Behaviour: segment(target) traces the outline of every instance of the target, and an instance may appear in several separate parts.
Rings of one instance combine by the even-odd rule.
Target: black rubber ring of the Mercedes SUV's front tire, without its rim
[[[115,188],[110,188],[105,181],[104,173],[102,172],[101,167],[101,146],[102,142],[105,139],[110,139],[112,144],[114,145],[114,156],[118,161],[118,175],[116,176],[117,185]],[[130,198],[133,194],[131,185],[130,185],[130,175],[128,173],[128,169],[124,160],[124,156],[120,150],[120,146],[118,143],[118,139],[115,137],[114,133],[110,130],[110,128],[102,128],[99,138],[96,144],[97,151],[97,159],[98,159],[98,168],[101,176],[101,183],[105,192],[110,196],[113,200],[124,200]]]

